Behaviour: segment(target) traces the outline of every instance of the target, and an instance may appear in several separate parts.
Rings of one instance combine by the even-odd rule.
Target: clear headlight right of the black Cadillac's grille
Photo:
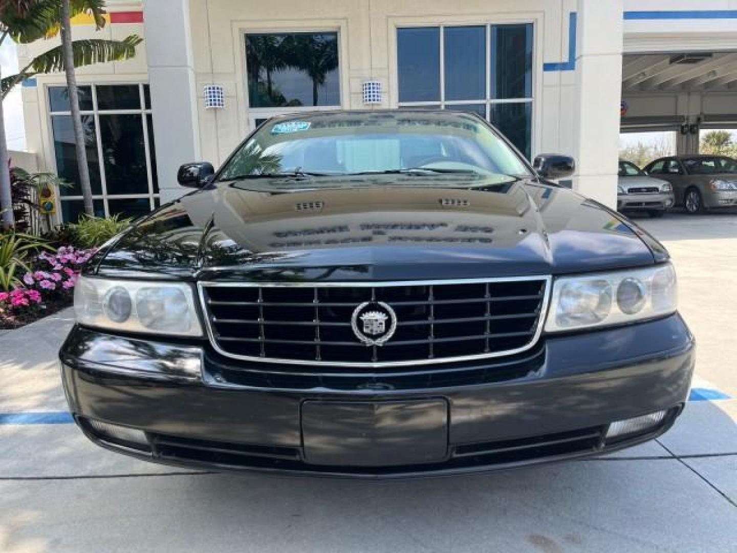
[[[676,310],[673,265],[562,277],[553,285],[545,330],[559,332],[668,315]]]

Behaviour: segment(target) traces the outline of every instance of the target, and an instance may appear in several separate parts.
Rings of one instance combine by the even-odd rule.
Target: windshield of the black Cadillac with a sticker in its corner
[[[413,172],[531,175],[517,154],[475,116],[367,111],[267,122],[228,160],[218,180],[265,175],[319,180]]]

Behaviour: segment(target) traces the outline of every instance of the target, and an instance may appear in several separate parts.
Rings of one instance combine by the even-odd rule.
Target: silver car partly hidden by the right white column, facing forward
[[[637,211],[663,217],[674,204],[673,187],[668,181],[648,176],[631,161],[619,160],[618,212]]]

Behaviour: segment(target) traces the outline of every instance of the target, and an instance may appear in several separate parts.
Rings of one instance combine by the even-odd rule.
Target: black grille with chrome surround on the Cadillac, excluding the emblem
[[[511,355],[537,341],[550,277],[390,283],[200,283],[213,346],[250,361],[402,366]],[[397,330],[381,346],[354,334],[363,302]]]

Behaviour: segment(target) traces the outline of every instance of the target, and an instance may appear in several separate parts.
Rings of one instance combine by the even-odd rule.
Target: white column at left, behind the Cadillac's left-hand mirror
[[[177,184],[181,164],[200,161],[200,129],[189,0],[145,1],[144,25],[161,203],[188,189]]]

